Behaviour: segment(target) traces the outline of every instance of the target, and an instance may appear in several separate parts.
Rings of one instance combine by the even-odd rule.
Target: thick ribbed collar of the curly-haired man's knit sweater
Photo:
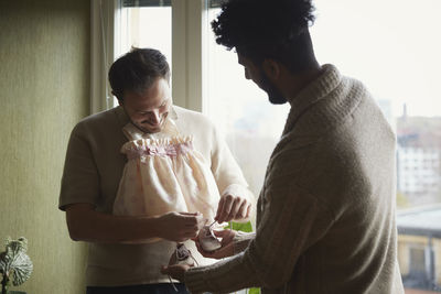
[[[334,65],[326,64],[322,68],[322,74],[291,100],[283,135],[294,127],[298,134],[325,131],[361,101],[359,91],[364,87],[359,81],[343,77]]]

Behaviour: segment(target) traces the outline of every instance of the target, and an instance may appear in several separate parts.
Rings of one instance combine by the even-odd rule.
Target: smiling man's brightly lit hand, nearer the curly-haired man
[[[243,220],[249,217],[251,203],[241,196],[235,196],[229,193],[222,195],[215,220],[222,224],[230,220]]]

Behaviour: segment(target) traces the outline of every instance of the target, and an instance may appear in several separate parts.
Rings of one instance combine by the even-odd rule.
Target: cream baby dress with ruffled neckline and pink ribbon
[[[128,161],[114,203],[114,215],[200,211],[212,221],[219,202],[213,173],[194,149],[193,137],[182,135],[170,118],[164,123],[159,133],[144,133],[130,122],[122,129],[129,142],[122,145],[121,152]]]

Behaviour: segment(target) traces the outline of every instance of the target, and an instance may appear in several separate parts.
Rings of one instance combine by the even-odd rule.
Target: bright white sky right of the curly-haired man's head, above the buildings
[[[315,0],[319,62],[361,79],[395,116],[441,116],[441,1]]]

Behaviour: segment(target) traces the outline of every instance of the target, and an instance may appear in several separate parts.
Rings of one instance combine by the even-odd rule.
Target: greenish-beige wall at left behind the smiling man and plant
[[[29,239],[30,294],[84,293],[85,246],[57,209],[69,131],[89,109],[89,1],[0,1],[0,251]]]

